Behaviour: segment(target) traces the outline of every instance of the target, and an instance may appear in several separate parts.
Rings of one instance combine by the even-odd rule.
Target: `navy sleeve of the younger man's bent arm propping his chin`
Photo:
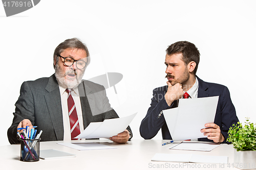
[[[163,92],[163,91],[162,91]],[[157,89],[153,90],[151,107],[148,108],[145,118],[140,124],[140,135],[144,139],[152,139],[165,123],[162,110],[171,108],[167,105],[164,93],[158,93]]]

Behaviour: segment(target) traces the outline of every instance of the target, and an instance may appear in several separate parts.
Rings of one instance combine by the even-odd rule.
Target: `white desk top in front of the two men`
[[[92,141],[92,140],[89,140]],[[126,144],[117,144],[107,139],[93,140],[101,144],[110,145],[117,149],[109,150],[88,150],[78,151],[57,144],[63,141],[40,142],[40,150],[56,149],[64,152],[76,154],[74,158],[60,158],[42,160],[37,162],[22,162],[20,159],[20,144],[6,145],[0,147],[0,166],[1,169],[19,169],[34,168],[39,169],[237,169],[232,166],[233,152],[232,145],[222,144],[220,147],[210,151],[182,151],[169,150],[168,145],[162,146],[162,143],[168,140],[136,140],[127,142]],[[210,156],[228,156],[228,163],[225,164],[202,164],[202,163],[179,163],[179,162],[158,162],[151,161],[156,153],[168,154],[199,154]],[[206,167],[206,168],[203,168]]]

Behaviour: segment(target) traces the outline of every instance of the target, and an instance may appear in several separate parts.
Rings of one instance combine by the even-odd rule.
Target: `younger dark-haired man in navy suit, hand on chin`
[[[199,140],[226,142],[229,127],[239,121],[236,110],[227,87],[204,82],[196,76],[199,57],[198,48],[187,41],[173,43],[166,49],[164,63],[168,81],[166,86],[153,90],[151,107],[140,125],[140,135],[144,139],[153,138],[160,129],[163,139],[172,139],[162,110],[177,107],[179,99],[219,96],[214,123],[205,124],[206,128],[201,130],[205,138]]]

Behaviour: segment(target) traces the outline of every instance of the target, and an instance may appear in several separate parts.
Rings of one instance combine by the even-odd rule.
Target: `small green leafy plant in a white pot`
[[[246,117],[244,127],[240,122],[228,131],[228,142],[233,144],[234,167],[240,169],[256,168],[256,124],[250,123]]]

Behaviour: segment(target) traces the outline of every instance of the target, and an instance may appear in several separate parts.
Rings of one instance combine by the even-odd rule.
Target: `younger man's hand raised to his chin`
[[[178,99],[181,99],[183,96],[183,89],[180,83],[176,83],[174,86],[167,82],[168,89],[164,95],[165,101],[168,106],[172,105],[172,103]]]

